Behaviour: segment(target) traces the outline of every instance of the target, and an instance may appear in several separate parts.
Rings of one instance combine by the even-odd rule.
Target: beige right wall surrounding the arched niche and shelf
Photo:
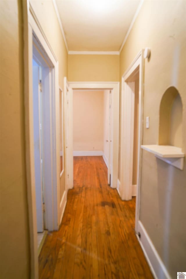
[[[185,1],[144,1],[120,55],[120,78],[144,47],[151,58],[144,65],[143,144],[157,144],[159,106],[163,93],[175,86],[183,102],[183,146],[186,134]],[[145,128],[145,117],[150,128]],[[180,171],[142,151],[140,220],[171,277],[185,267],[186,162]]]

